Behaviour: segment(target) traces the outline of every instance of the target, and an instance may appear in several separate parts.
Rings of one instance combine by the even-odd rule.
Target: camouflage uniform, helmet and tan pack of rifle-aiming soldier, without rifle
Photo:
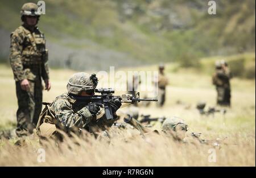
[[[94,90],[96,86],[97,82],[89,80],[88,75],[85,73],[73,74],[67,85],[68,93],[58,96],[40,114],[38,125],[36,126],[38,135],[48,138],[55,133],[56,129],[60,129],[65,133],[73,132],[79,134],[81,129],[93,133],[94,131],[111,127],[116,121],[117,115],[114,115],[114,119],[107,120],[104,114],[97,119],[97,115],[90,113],[88,107],[86,107],[89,102],[79,103],[74,97],[82,91]],[[50,124],[56,127],[52,127]],[[54,135],[61,138],[58,133]]]

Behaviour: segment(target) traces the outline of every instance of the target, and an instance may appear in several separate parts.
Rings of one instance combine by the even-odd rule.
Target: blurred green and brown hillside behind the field
[[[10,33],[21,24],[26,2],[0,2],[1,63],[9,63]],[[253,0],[217,0],[216,15],[208,14],[204,0],[45,2],[38,26],[51,68],[107,70],[162,61],[211,73],[210,57],[225,56],[235,76],[255,78]]]

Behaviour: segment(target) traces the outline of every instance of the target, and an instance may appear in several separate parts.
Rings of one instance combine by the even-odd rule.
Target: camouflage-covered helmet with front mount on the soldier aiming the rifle
[[[93,93],[97,85],[96,74],[89,76],[87,73],[79,72],[69,78],[67,89],[69,93],[79,95],[82,91]]]

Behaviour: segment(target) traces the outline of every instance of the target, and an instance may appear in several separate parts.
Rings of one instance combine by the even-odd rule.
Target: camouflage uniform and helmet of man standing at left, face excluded
[[[36,13],[31,14],[31,8],[36,10],[37,6],[34,3],[23,5],[22,19],[24,15],[39,16]],[[18,98],[16,134],[18,136],[27,135],[28,131],[32,132],[42,110],[43,86],[41,78],[43,80],[49,79],[46,40],[38,27],[31,30],[24,23],[11,33],[9,59],[14,73],[16,96]],[[29,91],[22,90],[20,86],[20,82],[24,79],[29,82]]]

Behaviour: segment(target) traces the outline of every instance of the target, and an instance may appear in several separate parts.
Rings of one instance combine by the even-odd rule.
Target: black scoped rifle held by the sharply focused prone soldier
[[[132,96],[131,94],[122,94],[122,96],[114,96],[115,90],[112,88],[100,88],[95,89],[95,93],[101,93],[101,95],[94,95],[91,97],[81,97],[81,96],[73,96],[77,102],[80,103],[89,103],[96,102],[104,105],[106,119],[114,119],[112,109],[110,108],[109,101],[110,100],[119,100],[122,103],[127,104],[135,104],[141,101],[158,101],[157,99],[140,99],[139,92]]]

